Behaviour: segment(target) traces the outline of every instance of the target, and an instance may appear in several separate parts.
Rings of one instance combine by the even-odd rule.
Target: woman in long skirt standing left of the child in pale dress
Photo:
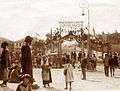
[[[52,77],[51,77],[51,70],[50,70],[50,65],[48,65],[48,60],[45,60],[42,66],[42,79],[43,79],[43,85],[46,87],[50,86],[49,83],[52,83]]]

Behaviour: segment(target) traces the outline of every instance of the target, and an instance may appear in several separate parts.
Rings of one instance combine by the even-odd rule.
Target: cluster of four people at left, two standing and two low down
[[[7,87],[7,82],[20,83],[16,91],[31,91],[33,82],[33,68],[32,68],[32,57],[30,45],[32,38],[27,36],[25,38],[26,45],[21,48],[21,60],[20,65],[16,65],[11,68],[10,54],[8,50],[8,43],[5,41],[1,44],[3,48],[0,61],[0,75],[2,76],[3,83],[0,84],[1,87]],[[21,71],[22,69],[22,71]]]

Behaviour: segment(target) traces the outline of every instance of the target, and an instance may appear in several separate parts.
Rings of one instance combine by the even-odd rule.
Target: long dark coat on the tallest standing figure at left
[[[31,77],[33,77],[30,47],[28,45],[22,46],[21,52],[22,52],[21,65],[23,66],[22,74],[30,74]]]

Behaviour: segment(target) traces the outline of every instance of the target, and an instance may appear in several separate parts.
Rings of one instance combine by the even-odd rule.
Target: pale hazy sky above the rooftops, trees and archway
[[[120,32],[120,0],[87,0],[90,10],[90,33]],[[87,22],[82,17],[81,0],[0,0],[0,37],[13,41],[27,35],[45,39],[59,21]]]

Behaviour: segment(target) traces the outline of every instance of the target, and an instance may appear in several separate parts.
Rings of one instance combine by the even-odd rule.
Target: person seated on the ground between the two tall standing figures
[[[16,65],[15,69],[11,71],[10,74],[10,81],[11,83],[19,83],[21,80],[22,75],[20,74],[21,67]]]

